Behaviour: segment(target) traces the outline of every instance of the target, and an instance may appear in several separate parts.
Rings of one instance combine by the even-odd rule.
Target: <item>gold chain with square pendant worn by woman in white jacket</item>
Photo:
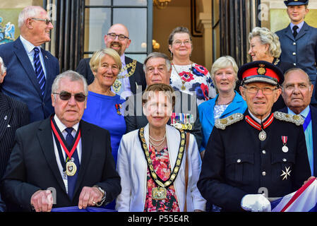
[[[179,172],[179,169],[181,167],[181,160],[182,160],[182,157],[184,155],[184,146],[186,143],[186,133],[181,130],[181,145],[179,148],[179,154],[177,155],[177,161],[176,161],[176,164],[175,164],[175,167],[173,169],[171,176],[164,183],[162,183],[158,179],[158,176],[155,173],[153,163],[152,163],[152,160],[150,157],[150,153],[148,151],[148,145],[145,142],[144,128],[140,129],[139,135],[140,135],[140,138],[142,141],[142,146],[143,146],[143,150],[145,152],[146,160],[148,161],[148,168],[150,169],[150,174],[151,174],[154,182],[157,184],[157,187],[152,189],[152,198],[155,200],[164,200],[167,197],[166,187],[174,183],[174,180],[176,179],[177,174]]]

